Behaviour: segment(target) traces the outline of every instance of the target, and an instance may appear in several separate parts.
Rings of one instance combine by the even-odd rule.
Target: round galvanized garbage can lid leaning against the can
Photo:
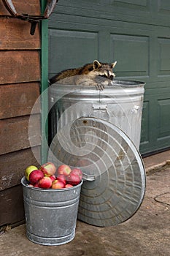
[[[114,124],[77,118],[57,132],[48,160],[80,167],[82,184],[78,219],[99,227],[132,217],[142,203],[145,171],[134,143]]]

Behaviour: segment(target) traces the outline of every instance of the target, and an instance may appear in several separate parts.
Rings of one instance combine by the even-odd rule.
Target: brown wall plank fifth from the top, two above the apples
[[[28,130],[29,129],[29,130]],[[29,116],[3,119],[0,121],[0,154],[18,151],[29,148],[30,141],[28,131],[31,130],[31,138],[34,145],[41,143],[40,115],[32,115],[32,122],[29,124]]]

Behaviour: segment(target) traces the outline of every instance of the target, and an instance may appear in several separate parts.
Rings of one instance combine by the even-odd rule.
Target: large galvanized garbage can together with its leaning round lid
[[[80,167],[86,181],[78,219],[99,227],[131,218],[144,198],[139,154],[144,83],[50,87],[48,161]]]

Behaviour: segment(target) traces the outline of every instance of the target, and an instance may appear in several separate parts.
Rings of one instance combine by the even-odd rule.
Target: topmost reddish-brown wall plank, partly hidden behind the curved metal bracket
[[[39,15],[40,14],[40,1],[39,0],[12,0],[15,10],[21,13],[28,13],[29,15]],[[0,15],[9,15],[9,12],[4,7],[2,0],[0,0]]]

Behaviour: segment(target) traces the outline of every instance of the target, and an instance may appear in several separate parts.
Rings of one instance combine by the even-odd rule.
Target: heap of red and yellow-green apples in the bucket
[[[82,181],[82,170],[60,165],[57,169],[53,162],[47,162],[38,169],[30,165],[25,170],[30,187],[42,189],[63,189],[74,187]],[[56,176],[55,176],[56,175]]]

